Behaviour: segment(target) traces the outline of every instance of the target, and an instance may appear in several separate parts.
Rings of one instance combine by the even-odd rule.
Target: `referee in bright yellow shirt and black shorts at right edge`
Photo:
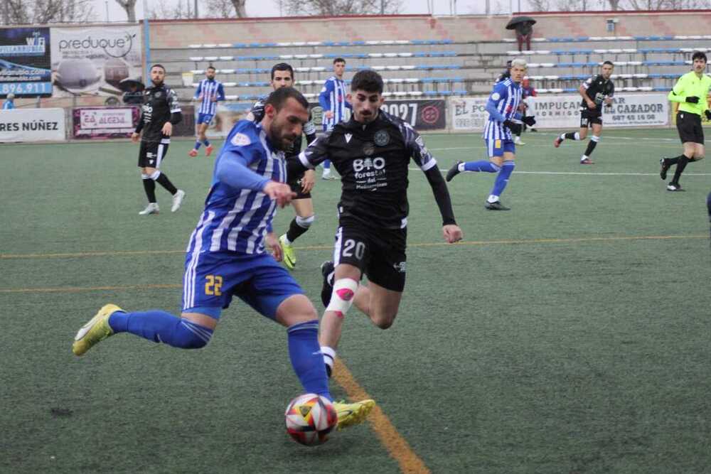
[[[675,158],[662,158],[659,176],[666,180],[670,166],[676,165],[674,177],[667,184],[668,191],[683,191],[679,184],[681,173],[687,163],[704,158],[704,129],[701,126],[701,114],[711,120],[707,95],[711,87],[711,77],[704,74],[706,70],[706,55],[696,51],[691,57],[692,70],[679,77],[674,88],[669,92],[668,99],[679,102],[676,114],[676,129],[684,146],[684,153]]]

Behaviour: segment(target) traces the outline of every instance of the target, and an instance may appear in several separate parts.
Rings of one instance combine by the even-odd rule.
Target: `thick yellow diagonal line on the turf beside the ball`
[[[363,387],[360,387],[358,382],[355,382],[348,367],[340,359],[336,359],[336,365],[333,367],[333,379],[343,387],[351,401],[370,398],[368,392],[365,392]],[[368,416],[368,421],[370,421],[375,434],[380,438],[380,442],[387,449],[387,453],[397,460],[403,473],[429,474],[429,468],[424,465],[424,462],[415,454],[415,451],[412,451],[410,444],[400,436],[395,426],[392,426],[390,419],[385,416],[380,406],[375,405],[373,411],[370,412],[370,416]]]

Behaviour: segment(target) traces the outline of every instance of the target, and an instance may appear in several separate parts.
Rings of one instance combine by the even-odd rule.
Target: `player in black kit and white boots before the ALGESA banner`
[[[144,91],[141,119],[131,140],[136,143],[141,137],[141,149],[138,153],[138,166],[141,168],[143,187],[148,197],[148,206],[139,212],[140,215],[158,214],[160,208],[156,203],[156,182],[173,195],[171,212],[180,209],[185,198],[185,191],[176,189],[165,173],[160,170],[161,162],[168,153],[171,143],[173,125],[183,119],[178,96],[175,91],[166,87],[163,81],[166,68],[156,64],[151,67],[151,82],[153,87]],[[143,135],[141,136],[141,131]]]

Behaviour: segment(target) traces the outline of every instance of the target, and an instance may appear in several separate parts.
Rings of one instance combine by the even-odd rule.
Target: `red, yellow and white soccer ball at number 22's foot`
[[[316,446],[326,443],[328,433],[338,422],[338,414],[326,397],[304,394],[289,403],[284,419],[287,421],[287,433],[297,443]]]

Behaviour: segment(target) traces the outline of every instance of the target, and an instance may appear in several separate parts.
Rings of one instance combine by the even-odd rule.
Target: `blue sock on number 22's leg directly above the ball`
[[[319,345],[319,320],[294,324],[287,329],[289,336],[289,358],[296,376],[307,393],[323,395],[333,401],[328,392],[328,377],[324,355]]]

